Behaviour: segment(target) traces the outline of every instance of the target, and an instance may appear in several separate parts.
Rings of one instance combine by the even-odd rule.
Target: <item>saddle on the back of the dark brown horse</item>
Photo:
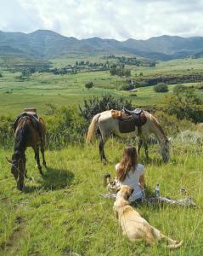
[[[31,124],[41,137],[39,117],[37,115],[37,110],[35,108],[25,108],[23,113],[20,113],[20,115],[14,122],[14,131],[16,131],[18,124],[20,123],[20,120],[25,117],[28,117],[31,120]]]

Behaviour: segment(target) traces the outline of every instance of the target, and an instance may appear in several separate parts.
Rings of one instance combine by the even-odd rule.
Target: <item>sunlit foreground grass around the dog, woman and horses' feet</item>
[[[138,209],[166,235],[183,239],[183,246],[174,252],[162,242],[148,247],[127,241],[113,216],[113,201],[99,196],[105,193],[103,175],[115,175],[123,147],[116,139],[106,144],[107,166],[99,162],[97,144],[47,151],[45,177],[40,177],[34,154],[28,150],[27,170],[32,180],[25,181],[24,193],[15,188],[5,160],[12,152],[1,150],[0,255],[201,255],[202,144],[197,148],[195,143],[174,141],[168,164],[161,162],[158,148],[151,147],[153,161],[145,164],[149,189],[160,183],[162,195],[179,198],[183,186],[197,204],[196,208],[143,205]],[[140,161],[144,161],[143,154]]]

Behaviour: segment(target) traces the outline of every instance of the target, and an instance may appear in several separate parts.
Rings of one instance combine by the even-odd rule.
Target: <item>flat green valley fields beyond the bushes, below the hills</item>
[[[68,59],[52,60],[54,67],[65,67],[65,65],[74,63],[76,57]],[[83,60],[96,61],[99,57],[91,57]],[[176,61],[161,61],[156,67],[133,67],[132,76],[139,73],[144,75],[166,74],[166,73],[189,73],[200,71],[203,67],[203,58],[186,59]],[[0,113],[18,114],[23,108],[35,107],[39,113],[46,111],[48,104],[55,106],[68,106],[82,104],[83,99],[88,96],[100,96],[102,94],[111,94],[113,96],[125,96],[133,101],[134,106],[148,106],[161,104],[163,93],[155,93],[152,86],[138,88],[132,95],[131,92],[121,89],[121,86],[127,84],[125,78],[110,76],[106,72],[85,72],[75,75],[54,75],[51,73],[35,73],[30,79],[20,81],[20,73],[10,73],[5,69],[0,69],[3,77],[0,78]],[[93,81],[94,87],[90,90],[85,88],[85,84]],[[193,83],[194,84],[194,83]],[[191,84],[187,84],[191,85]],[[175,84],[169,85],[169,93]],[[203,98],[203,92],[198,91]]]

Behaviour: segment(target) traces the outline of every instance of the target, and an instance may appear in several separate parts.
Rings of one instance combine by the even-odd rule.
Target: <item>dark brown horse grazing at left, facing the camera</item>
[[[12,155],[12,160],[7,160],[11,164],[11,172],[17,182],[17,189],[22,190],[24,188],[24,177],[26,177],[25,149],[27,147],[33,148],[37,167],[43,175],[39,158],[39,148],[41,148],[43,166],[46,167],[44,158],[45,125],[42,118],[37,120],[30,114],[25,114],[17,119],[15,126],[14,154]]]

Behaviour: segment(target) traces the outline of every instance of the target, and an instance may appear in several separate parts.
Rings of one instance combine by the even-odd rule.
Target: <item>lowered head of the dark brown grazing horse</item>
[[[12,155],[12,159],[8,160],[8,162],[11,165],[11,172],[14,175],[14,179],[17,182],[17,188],[20,190],[23,189],[25,174],[25,154],[21,153],[20,150],[16,150]]]

